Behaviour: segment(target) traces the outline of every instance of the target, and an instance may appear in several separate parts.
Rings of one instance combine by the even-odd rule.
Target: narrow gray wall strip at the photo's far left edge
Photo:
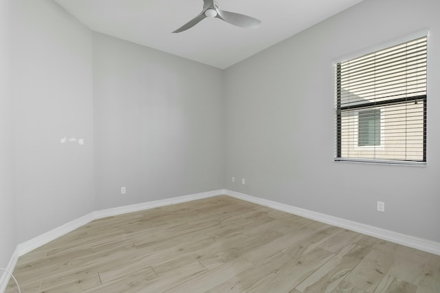
[[[0,0],[0,268],[16,246],[11,6],[12,0]]]

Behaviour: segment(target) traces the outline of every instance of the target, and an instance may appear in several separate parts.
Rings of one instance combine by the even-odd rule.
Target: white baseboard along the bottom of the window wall
[[[440,243],[436,241],[430,241],[419,237],[404,235],[399,232],[377,228],[374,226],[369,226],[366,224],[361,224],[355,221],[349,221],[347,219],[333,217],[322,213],[316,213],[311,210],[305,210],[304,208],[296,208],[295,206],[289,206],[288,204],[281,204],[279,202],[274,202],[268,199],[262,199],[260,197],[254,197],[252,195],[246,195],[244,193],[238,193],[236,191],[225,190],[225,195],[236,197],[238,199],[243,199],[248,202],[253,202],[254,204],[267,206],[269,208],[275,208],[276,210],[282,210],[283,212],[291,213],[301,217],[306,217],[308,219],[314,219],[316,221],[320,221],[322,223],[329,224],[332,226],[337,226],[340,228],[353,230],[355,232],[360,232],[365,235],[370,235],[373,237],[398,243],[403,246],[408,246],[411,248],[416,248],[418,250],[423,250],[425,252],[430,252],[433,254],[440,255]]]

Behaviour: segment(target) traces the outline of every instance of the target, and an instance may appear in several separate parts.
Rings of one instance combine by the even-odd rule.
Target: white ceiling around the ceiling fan
[[[362,0],[217,0],[219,9],[262,21],[237,28],[203,19],[185,32],[174,30],[195,17],[202,0],[54,0],[91,30],[225,69]]]

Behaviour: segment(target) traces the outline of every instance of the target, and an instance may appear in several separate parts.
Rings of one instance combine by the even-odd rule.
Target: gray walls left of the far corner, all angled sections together
[[[94,34],[53,1],[11,3],[8,14],[1,2],[0,38],[14,36],[0,55],[1,263],[91,210],[223,188],[220,69]]]

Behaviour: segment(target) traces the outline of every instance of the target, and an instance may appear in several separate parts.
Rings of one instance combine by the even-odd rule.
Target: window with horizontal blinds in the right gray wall
[[[427,36],[336,64],[336,159],[426,162]]]

